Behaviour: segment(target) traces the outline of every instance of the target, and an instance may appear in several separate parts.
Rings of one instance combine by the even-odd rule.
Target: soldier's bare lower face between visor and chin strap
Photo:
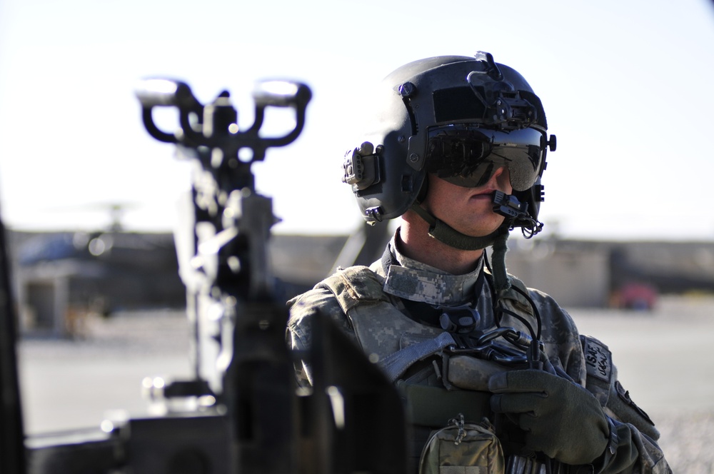
[[[467,236],[480,237],[496,231],[505,217],[493,212],[493,192],[511,194],[508,168],[498,168],[491,179],[478,188],[448,183],[434,174],[428,175],[429,190],[424,208]]]

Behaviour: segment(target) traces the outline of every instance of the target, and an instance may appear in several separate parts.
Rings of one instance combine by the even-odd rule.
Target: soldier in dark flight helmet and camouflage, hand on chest
[[[319,310],[378,360],[405,400],[412,471],[670,472],[607,346],[506,273],[509,231],[543,226],[555,149],[531,86],[481,52],[414,61],[383,86],[344,181],[368,223],[401,226],[380,260],[289,303],[288,343],[308,347]],[[296,370],[309,385],[310,365]]]

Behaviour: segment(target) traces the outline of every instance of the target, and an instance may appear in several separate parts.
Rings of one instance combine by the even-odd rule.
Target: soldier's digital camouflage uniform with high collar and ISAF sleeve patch
[[[317,308],[330,316],[371,360],[384,361],[402,348],[443,333],[438,321],[435,323],[428,315],[430,311],[436,313],[430,310],[436,306],[475,302],[481,315],[477,329],[496,327],[493,282],[483,264],[478,265],[476,271],[453,276],[403,256],[396,246],[397,237],[398,232],[381,261],[369,268],[338,271],[313,290],[291,300],[286,332],[291,348],[302,350],[310,346],[309,321]],[[522,286],[516,278],[511,281],[513,285]],[[581,338],[573,320],[553,298],[533,289],[529,289],[528,294],[542,319],[541,341],[548,362],[594,393],[613,420],[616,436],[611,438],[608,450],[616,454],[608,456],[608,466],[596,465],[595,472],[670,472],[655,441],[658,431],[617,382],[617,370],[611,364],[607,347],[595,339]],[[506,306],[535,326],[531,306],[516,291],[511,291]],[[427,313],[426,316],[423,313]],[[500,326],[526,331],[521,321],[508,315],[503,316]],[[410,440],[413,462],[418,460],[431,430],[443,427],[456,413],[492,418],[488,408],[488,378],[501,370],[508,369],[468,356],[448,358],[438,353],[398,374],[396,386],[407,400],[407,415],[413,423]],[[296,373],[299,383],[311,384],[308,364],[296,366]],[[434,403],[434,400],[439,401]],[[508,448],[506,451],[508,454]],[[587,468],[593,472],[590,466]]]

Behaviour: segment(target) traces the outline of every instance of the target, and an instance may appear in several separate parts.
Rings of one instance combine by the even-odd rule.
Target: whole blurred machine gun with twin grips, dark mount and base
[[[24,443],[19,398],[5,397],[13,403],[2,412],[2,473],[404,472],[403,407],[381,371],[326,316],[316,318],[309,353],[292,354],[285,343],[288,313],[276,299],[267,258],[276,218],[271,199],[256,193],[251,165],[298,137],[310,89],[258,84],[255,120],[245,131],[228,92],[203,105],[185,83],[149,79],[136,96],[151,136],[174,143],[193,164],[190,225],[176,236],[188,248],[179,264],[193,378],[145,387],[164,402],[164,415]],[[176,131],[156,126],[157,107],[177,109]],[[268,107],[292,109],[292,130],[262,136]],[[14,356],[14,341],[5,347]],[[296,386],[298,358],[313,366],[312,390]],[[13,380],[16,388],[16,373],[3,377],[3,388]],[[5,453],[14,462],[5,464]]]

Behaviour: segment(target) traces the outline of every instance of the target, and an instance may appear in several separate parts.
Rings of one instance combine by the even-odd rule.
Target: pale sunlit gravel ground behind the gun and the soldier
[[[619,378],[655,420],[675,473],[714,473],[714,298],[663,298],[655,311],[570,310],[581,333],[613,351]],[[99,426],[147,413],[141,380],[191,374],[188,323],[176,311],[86,321],[78,341],[19,344],[26,433]]]

